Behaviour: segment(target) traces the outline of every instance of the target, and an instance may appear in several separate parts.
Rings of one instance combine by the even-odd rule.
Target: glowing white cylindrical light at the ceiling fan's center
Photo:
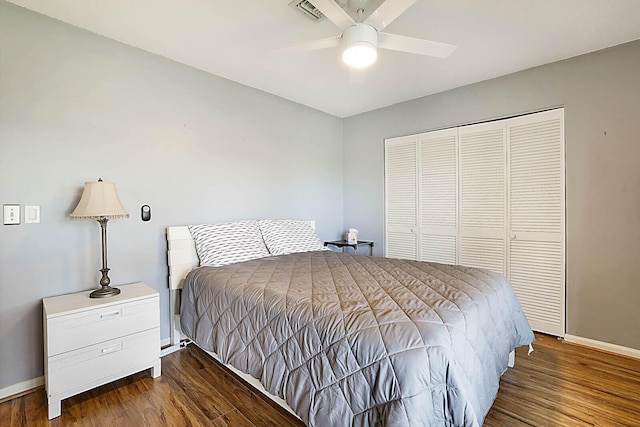
[[[349,67],[368,67],[378,59],[378,33],[369,25],[357,24],[346,28],[342,42],[342,60]]]

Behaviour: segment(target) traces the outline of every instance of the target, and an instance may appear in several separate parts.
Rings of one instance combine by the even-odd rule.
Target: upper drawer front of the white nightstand
[[[49,357],[159,327],[158,297],[112,304],[49,319]]]

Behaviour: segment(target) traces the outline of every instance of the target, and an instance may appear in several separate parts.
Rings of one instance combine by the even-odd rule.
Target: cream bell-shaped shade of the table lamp
[[[129,218],[113,182],[85,182],[78,206],[71,213],[71,219]]]

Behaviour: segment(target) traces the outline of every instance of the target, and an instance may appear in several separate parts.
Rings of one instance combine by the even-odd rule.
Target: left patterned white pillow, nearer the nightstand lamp
[[[220,267],[269,256],[258,222],[190,225],[201,266]]]

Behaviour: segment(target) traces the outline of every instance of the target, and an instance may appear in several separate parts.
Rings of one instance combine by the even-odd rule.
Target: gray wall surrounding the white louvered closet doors
[[[567,333],[640,349],[640,41],[345,119],[345,227],[384,248],[387,137],[565,106]]]

